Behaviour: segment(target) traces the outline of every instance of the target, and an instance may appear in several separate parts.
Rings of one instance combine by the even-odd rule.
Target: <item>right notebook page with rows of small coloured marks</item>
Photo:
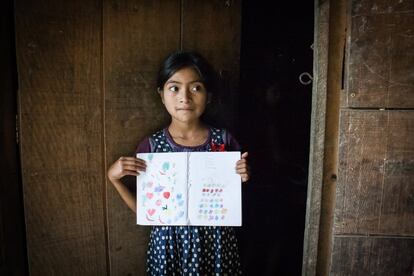
[[[240,152],[191,152],[189,220],[191,225],[241,226]]]

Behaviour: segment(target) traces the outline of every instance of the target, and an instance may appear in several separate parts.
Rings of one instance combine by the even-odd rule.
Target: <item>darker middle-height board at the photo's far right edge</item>
[[[414,111],[389,111],[379,232],[414,236]]]

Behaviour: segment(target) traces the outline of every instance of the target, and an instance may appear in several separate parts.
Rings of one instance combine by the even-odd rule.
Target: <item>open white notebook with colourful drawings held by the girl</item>
[[[240,152],[138,153],[137,224],[241,226]]]

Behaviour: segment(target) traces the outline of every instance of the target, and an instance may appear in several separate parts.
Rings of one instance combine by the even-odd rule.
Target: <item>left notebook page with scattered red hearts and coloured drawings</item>
[[[137,177],[137,224],[187,224],[186,153],[138,153],[147,162]]]

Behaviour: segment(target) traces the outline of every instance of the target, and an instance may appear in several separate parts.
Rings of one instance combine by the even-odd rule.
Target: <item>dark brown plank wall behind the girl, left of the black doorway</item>
[[[171,51],[210,59],[227,83],[221,102],[234,109],[240,9],[218,0],[16,1],[31,275],[144,273],[149,229],[135,225],[106,170],[168,122],[155,78]],[[126,183],[133,189],[133,178]]]

